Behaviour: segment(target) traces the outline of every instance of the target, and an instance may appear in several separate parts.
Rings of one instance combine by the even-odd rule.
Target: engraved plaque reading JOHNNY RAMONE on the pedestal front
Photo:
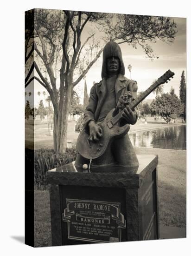
[[[68,239],[94,243],[120,242],[126,220],[121,203],[66,199],[63,221],[68,223]]]

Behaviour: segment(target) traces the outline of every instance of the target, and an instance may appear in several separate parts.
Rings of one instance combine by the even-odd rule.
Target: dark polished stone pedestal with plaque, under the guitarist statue
[[[138,170],[47,172],[52,245],[159,239],[158,156],[137,156]]]

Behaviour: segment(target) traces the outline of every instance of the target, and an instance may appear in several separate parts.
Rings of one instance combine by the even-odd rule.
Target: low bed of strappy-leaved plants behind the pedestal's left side
[[[47,185],[46,171],[60,167],[76,159],[76,149],[67,148],[66,153],[55,153],[53,149],[38,149],[34,151],[35,187]]]

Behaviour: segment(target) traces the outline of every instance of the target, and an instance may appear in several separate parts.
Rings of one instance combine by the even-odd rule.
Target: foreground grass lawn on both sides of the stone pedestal
[[[159,155],[158,193],[161,225],[186,227],[186,152],[135,148],[137,154]],[[51,246],[48,190],[35,191],[35,246]]]

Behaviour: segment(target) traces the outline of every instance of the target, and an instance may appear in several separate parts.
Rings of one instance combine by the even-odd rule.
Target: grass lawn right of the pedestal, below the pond
[[[160,224],[186,227],[186,151],[135,148],[136,154],[159,155],[158,194]]]

